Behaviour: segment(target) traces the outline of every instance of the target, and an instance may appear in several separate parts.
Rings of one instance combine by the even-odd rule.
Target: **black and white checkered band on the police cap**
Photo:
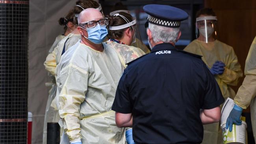
[[[152,17],[151,15],[148,15],[147,18],[148,22],[151,22],[153,24],[157,24],[160,26],[166,26],[166,27],[180,27],[180,22],[179,21],[167,21],[167,20],[161,20],[155,17]]]

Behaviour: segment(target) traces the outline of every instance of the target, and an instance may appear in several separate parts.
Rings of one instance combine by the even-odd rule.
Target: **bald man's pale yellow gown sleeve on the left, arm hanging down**
[[[67,129],[70,142],[77,142],[81,140],[80,105],[85,100],[89,70],[88,67],[82,69],[72,63],[65,69],[68,70],[68,75],[64,78],[66,80],[59,94],[59,116],[64,118],[64,128]],[[58,78],[61,79],[61,76],[60,73]]]

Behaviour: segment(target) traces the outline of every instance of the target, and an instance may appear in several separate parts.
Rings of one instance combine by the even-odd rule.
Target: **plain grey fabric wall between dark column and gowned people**
[[[30,0],[28,111],[33,114],[32,144],[43,142],[49,90],[45,86],[49,78],[43,63],[56,36],[63,33],[59,18],[64,17],[75,3],[76,0]]]

